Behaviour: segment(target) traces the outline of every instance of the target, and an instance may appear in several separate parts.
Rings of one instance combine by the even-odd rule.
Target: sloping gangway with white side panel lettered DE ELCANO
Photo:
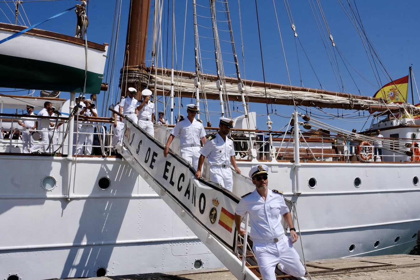
[[[242,267],[244,246],[238,240],[234,225],[234,213],[240,198],[217,183],[206,180],[205,177],[209,178],[206,166],[203,167],[203,177],[195,178],[195,170],[189,162],[180,153],[173,152],[179,152],[178,139],[174,139],[172,150],[164,157],[163,143],[169,136],[166,126],[155,127],[155,137],[152,137],[126,117],[124,124],[117,152],[236,278],[262,279],[257,260],[250,249],[252,246],[247,246],[246,266],[244,269]],[[255,188],[249,178],[236,173],[234,183],[249,189]],[[280,270],[276,270],[276,273],[277,279],[296,279],[283,275]]]

